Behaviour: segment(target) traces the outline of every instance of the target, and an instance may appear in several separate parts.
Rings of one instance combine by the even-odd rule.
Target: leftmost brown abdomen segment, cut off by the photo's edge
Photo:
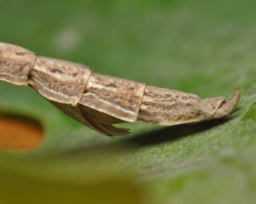
[[[0,42],[0,80],[26,87],[34,62],[35,53]]]

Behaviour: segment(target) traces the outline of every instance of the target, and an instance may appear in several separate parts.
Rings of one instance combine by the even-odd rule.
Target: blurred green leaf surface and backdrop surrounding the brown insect
[[[0,152],[1,203],[255,202],[255,11],[254,0],[0,1],[0,41],[39,56],[201,98],[242,90],[225,118],[106,137],[0,82],[0,113],[44,131],[31,151]]]

